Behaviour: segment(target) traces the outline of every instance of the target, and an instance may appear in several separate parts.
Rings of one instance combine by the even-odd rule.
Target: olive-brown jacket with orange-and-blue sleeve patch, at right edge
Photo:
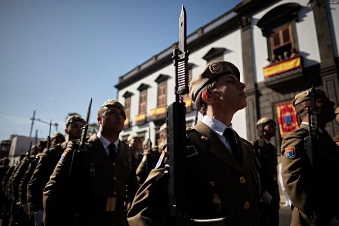
[[[291,226],[320,226],[335,216],[339,219],[339,147],[326,131],[319,132],[311,166],[304,148],[308,136],[308,125],[301,124],[282,140],[282,180],[294,206]]]

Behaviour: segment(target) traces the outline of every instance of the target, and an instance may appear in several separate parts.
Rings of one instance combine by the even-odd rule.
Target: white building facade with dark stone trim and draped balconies
[[[291,101],[314,85],[339,104],[339,4],[330,0],[243,0],[188,35],[190,78],[213,60],[234,63],[246,84],[248,106],[233,117],[233,128],[247,140],[257,136],[256,121],[277,121],[276,144],[300,121]],[[189,13],[188,13],[189,18]],[[119,77],[117,99],[126,108],[121,139],[138,135],[156,143],[166,107],[174,101],[173,44]],[[194,125],[195,108],[188,96],[187,126]],[[201,115],[199,115],[201,117]],[[331,136],[338,124],[329,123]]]

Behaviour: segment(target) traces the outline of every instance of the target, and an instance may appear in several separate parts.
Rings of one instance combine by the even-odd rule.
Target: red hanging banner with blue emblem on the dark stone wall
[[[298,117],[295,113],[292,102],[277,104],[276,111],[278,116],[280,135],[283,138],[288,132],[291,132],[298,128]]]

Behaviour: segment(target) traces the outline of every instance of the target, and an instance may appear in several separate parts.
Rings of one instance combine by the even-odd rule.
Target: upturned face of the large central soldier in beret
[[[233,113],[247,106],[245,84],[239,82],[234,75],[224,75],[220,77],[215,85],[213,92],[215,106],[220,110],[227,110]]]

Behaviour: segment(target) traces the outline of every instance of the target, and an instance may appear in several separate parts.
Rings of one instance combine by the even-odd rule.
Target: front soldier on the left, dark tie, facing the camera
[[[68,142],[44,189],[45,226],[125,225],[126,195],[134,197],[139,188],[133,152],[118,139],[125,119],[124,107],[107,100],[98,111],[99,132],[87,140],[86,150],[73,159],[78,145]]]

